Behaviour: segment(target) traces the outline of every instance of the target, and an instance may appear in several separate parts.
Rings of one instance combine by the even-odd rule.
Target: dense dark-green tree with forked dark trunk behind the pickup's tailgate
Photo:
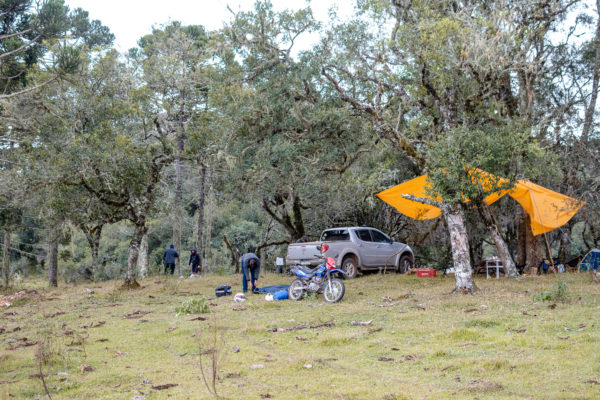
[[[324,227],[327,213],[341,208],[331,194],[367,151],[364,124],[322,85],[314,53],[293,55],[296,40],[317,28],[310,9],[276,13],[258,2],[223,31],[235,57],[223,52],[226,86],[217,101],[234,121],[237,140],[227,149],[238,160],[234,173],[266,213],[267,227],[277,222],[290,241],[307,225]]]

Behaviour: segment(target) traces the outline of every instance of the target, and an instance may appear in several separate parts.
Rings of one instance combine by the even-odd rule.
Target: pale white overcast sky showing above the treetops
[[[152,25],[181,21],[184,25],[203,25],[216,30],[229,21],[232,10],[251,10],[255,0],[66,0],[71,8],[81,7],[90,13],[90,19],[99,19],[115,35],[115,46],[126,51],[137,45],[137,40],[152,32]],[[304,0],[272,0],[276,11],[303,8]],[[355,0],[314,0],[310,3],[315,18],[327,21],[330,7],[337,7],[339,15],[352,14]]]

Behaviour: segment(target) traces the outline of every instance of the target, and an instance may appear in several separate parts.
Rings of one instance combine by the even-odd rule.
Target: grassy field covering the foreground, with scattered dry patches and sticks
[[[0,399],[46,399],[44,383],[52,399],[214,398],[208,387],[227,399],[600,398],[589,275],[477,277],[471,296],[447,294],[453,278],[370,274],[346,281],[338,304],[214,297],[239,281],[37,288],[0,309]],[[260,285],[290,281],[266,274]],[[200,296],[210,313],[177,315]]]

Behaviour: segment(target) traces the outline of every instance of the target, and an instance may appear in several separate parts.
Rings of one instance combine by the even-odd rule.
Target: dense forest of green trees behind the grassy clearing
[[[460,206],[485,195],[465,165],[585,201],[548,235],[553,257],[599,247],[598,0],[364,0],[329,24],[257,2],[218,31],[156,27],[127,53],[62,0],[0,5],[4,286],[134,284],[171,243],[178,273],[192,247],[205,272],[231,273],[239,253],[270,266],[349,225],[447,267],[444,220],[374,197],[424,172],[465,213],[472,263],[501,240],[537,266],[544,239],[516,202]]]

